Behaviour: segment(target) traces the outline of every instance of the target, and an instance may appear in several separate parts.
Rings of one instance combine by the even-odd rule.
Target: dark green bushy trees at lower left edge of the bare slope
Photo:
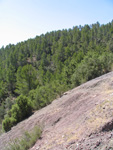
[[[32,113],[32,102],[23,95],[16,99],[16,104],[12,105],[10,115],[8,115],[2,122],[3,130],[9,131],[18,122],[27,118]]]

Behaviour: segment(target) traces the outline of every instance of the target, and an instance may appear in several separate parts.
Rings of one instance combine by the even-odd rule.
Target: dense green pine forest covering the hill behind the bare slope
[[[113,21],[75,26],[0,49],[0,123],[4,131],[33,111],[113,69]]]

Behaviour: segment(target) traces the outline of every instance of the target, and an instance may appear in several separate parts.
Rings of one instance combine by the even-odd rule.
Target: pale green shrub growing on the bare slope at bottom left
[[[25,131],[24,135],[20,139],[11,141],[7,150],[28,150],[30,149],[42,133],[41,128],[35,126],[31,132]]]

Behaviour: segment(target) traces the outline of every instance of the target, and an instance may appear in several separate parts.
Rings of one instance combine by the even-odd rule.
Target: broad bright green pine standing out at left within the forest
[[[37,72],[32,65],[19,67],[17,70],[16,93],[27,95],[38,84]]]

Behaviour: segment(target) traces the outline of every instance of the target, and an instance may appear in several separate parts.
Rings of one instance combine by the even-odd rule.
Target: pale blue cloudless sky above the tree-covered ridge
[[[0,48],[47,32],[112,20],[113,0],[0,0]]]

